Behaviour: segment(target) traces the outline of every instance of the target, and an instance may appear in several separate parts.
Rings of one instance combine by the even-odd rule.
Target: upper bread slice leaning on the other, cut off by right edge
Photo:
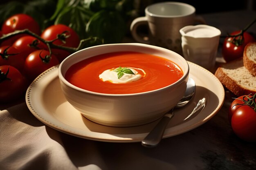
[[[250,42],[245,46],[243,62],[245,68],[256,76],[256,42]]]

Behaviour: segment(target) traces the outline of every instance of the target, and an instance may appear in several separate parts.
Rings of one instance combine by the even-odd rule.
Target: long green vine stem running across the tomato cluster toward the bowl
[[[74,53],[76,51],[79,51],[81,49],[83,49],[83,46],[91,41],[91,40],[94,40],[94,41],[100,41],[102,44],[103,44],[103,40],[100,39],[100,38],[97,38],[97,37],[90,37],[90,38],[87,38],[87,39],[83,39],[83,40],[80,40],[80,43],[79,43],[79,46],[76,47],[76,48],[73,48],[73,47],[67,47],[67,46],[60,46],[60,45],[56,45],[56,44],[53,44],[53,42],[55,40],[58,40],[58,38],[54,39],[54,40],[51,40],[51,41],[47,41],[47,40],[44,40],[43,38],[41,38],[39,35],[29,31],[28,29],[24,29],[24,30],[18,30],[18,31],[13,31],[12,33],[8,33],[8,34],[5,34],[3,35],[2,37],[0,37],[0,42],[3,41],[3,40],[7,40],[8,38],[11,38],[13,37],[14,35],[18,35],[18,34],[27,34],[27,35],[31,35],[35,38],[37,38],[38,40],[40,40],[41,42],[45,43],[49,49],[49,53],[50,55],[52,54],[52,51],[51,51],[51,48],[54,48],[54,49],[63,49],[65,51],[68,51],[70,53]]]

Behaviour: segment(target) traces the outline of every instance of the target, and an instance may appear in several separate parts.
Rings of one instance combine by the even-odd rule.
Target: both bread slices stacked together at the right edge
[[[218,67],[215,76],[237,96],[256,93],[256,42],[245,46],[243,57]]]

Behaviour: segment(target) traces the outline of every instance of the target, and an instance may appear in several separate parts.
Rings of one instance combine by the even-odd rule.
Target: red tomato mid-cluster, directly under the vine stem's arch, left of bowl
[[[16,49],[27,56],[38,49],[48,49],[47,45],[30,35],[25,35],[16,40],[13,45]]]

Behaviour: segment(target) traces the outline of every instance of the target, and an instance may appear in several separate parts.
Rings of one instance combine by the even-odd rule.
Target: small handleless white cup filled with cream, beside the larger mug
[[[209,71],[216,62],[220,30],[209,25],[189,25],[180,29],[183,57]]]

